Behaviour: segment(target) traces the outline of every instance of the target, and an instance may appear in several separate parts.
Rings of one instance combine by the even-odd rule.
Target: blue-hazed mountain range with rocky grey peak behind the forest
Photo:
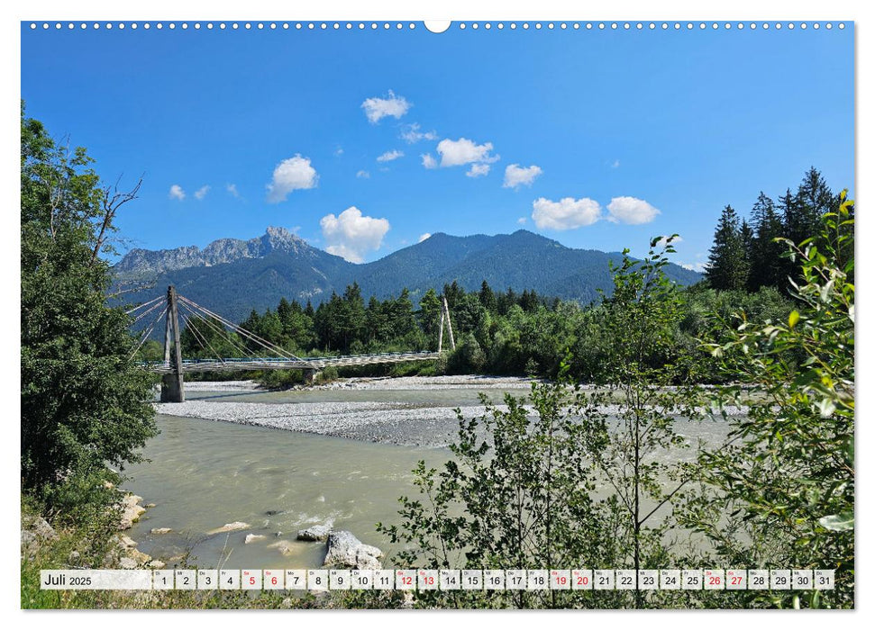
[[[366,300],[372,294],[386,298],[407,288],[416,303],[430,288],[440,292],[444,284],[455,281],[466,291],[478,291],[486,280],[496,291],[534,289],[544,296],[588,303],[597,299],[599,289],[610,292],[609,261],[622,259],[618,252],[573,249],[520,229],[495,236],[437,233],[356,265],[287,229],[271,227],[259,238],[220,238],[204,248],[132,249],[114,266],[114,275],[119,284],[151,285],[124,293],[124,302],[144,302],[174,284],[190,300],[240,321],[252,309],[276,308],[283,297],[317,306],[353,282]],[[683,285],[701,279],[673,264],[666,273]]]

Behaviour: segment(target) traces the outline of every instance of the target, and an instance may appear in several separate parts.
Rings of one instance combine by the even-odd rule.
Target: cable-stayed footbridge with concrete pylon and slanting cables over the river
[[[157,326],[164,323],[164,360],[145,362],[143,365],[150,372],[161,374],[161,402],[185,402],[185,374],[203,372],[239,372],[250,370],[300,370],[304,374],[305,383],[314,383],[314,379],[324,368],[351,367],[357,365],[379,365],[392,363],[407,363],[411,361],[430,361],[440,358],[443,349],[443,329],[449,332],[450,345],[456,347],[452,336],[450,309],[446,298],[442,301],[441,328],[438,331],[437,352],[395,352],[378,355],[355,356],[296,356],[283,347],[262,338],[251,330],[223,318],[218,313],[179,295],[173,286],[169,286],[166,295],[142,302],[133,307],[127,314],[133,318],[132,325],[140,321],[147,322],[140,337],[140,342],[133,354],[142,347]],[[150,320],[150,316],[153,316]],[[180,320],[211,358],[186,359],[182,356]],[[149,323],[150,322],[150,323]],[[232,335],[235,333],[235,335]],[[239,356],[223,357],[217,352],[210,339],[215,335],[227,342]],[[253,348],[257,354],[253,354]]]

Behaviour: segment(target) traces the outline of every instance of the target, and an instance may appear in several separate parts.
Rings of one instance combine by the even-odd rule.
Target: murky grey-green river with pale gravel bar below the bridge
[[[442,378],[289,392],[193,384],[186,403],[156,405],[160,435],[143,449],[147,461],[124,471],[124,487],[155,504],[129,536],[153,557],[190,554],[204,568],[312,568],[324,544],[296,541],[297,531],[328,523],[391,555],[376,524],[397,522],[418,461],[449,459],[453,408],[469,416],[482,412],[480,391],[500,401],[528,390],[515,379]],[[724,433],[685,424],[690,439]],[[235,521],[249,527],[210,533]]]

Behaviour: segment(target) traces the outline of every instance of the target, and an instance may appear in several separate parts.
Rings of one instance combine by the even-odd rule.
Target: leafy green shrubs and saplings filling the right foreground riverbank
[[[419,496],[400,499],[399,525],[379,527],[404,546],[402,566],[831,569],[834,590],[432,591],[418,603],[853,608],[853,203],[838,202],[816,237],[780,241],[800,278],[787,318],[756,323],[739,311],[714,320],[715,341],[686,351],[705,351],[732,384],[700,387],[683,354],[651,366],[649,356],[678,352],[682,302],[661,271],[670,244],[626,258],[604,300],[616,323],[604,386],[622,404],[606,414],[606,392],[580,390],[567,363],[528,400],[506,396],[506,410],[484,400],[485,415],[460,414],[454,460],[440,471],[422,462]],[[746,413],[727,415],[742,402]],[[669,456],[693,446],[678,419],[709,418],[729,423],[724,444]]]

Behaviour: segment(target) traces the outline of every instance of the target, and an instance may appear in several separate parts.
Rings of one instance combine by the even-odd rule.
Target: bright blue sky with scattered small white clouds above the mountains
[[[424,234],[531,229],[706,260],[816,166],[852,188],[853,38],[843,31],[32,31],[27,113],[106,180],[145,173],[131,247],[284,226],[355,262]],[[427,156],[427,157],[424,157]]]

